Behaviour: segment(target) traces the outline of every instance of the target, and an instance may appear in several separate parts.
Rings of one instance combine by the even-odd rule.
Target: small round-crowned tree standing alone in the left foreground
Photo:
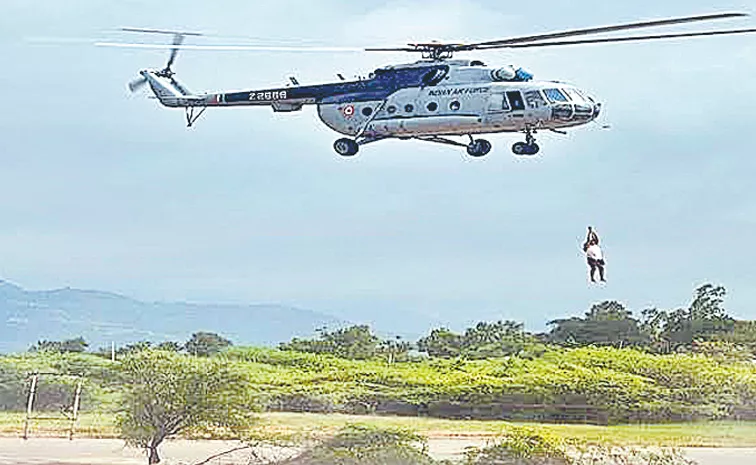
[[[251,384],[228,361],[145,350],[127,356],[121,370],[121,435],[147,449],[150,464],[160,462],[166,438],[202,427],[238,434],[252,419]]]

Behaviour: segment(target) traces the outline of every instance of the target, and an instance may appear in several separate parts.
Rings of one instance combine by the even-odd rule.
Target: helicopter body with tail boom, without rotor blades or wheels
[[[142,74],[166,106],[252,105],[290,112],[316,105],[323,123],[360,143],[497,132],[526,132],[530,139],[531,131],[583,125],[601,111],[598,101],[575,86],[469,60],[389,66],[369,78],[338,83],[205,95],[189,93],[172,76]]]

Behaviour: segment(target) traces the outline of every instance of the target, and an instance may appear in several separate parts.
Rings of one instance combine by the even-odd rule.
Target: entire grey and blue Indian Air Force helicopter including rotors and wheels
[[[96,45],[170,50],[165,67],[141,70],[141,77],[129,83],[129,88],[136,92],[149,84],[160,104],[185,110],[187,126],[190,127],[207,108],[269,106],[274,112],[294,112],[301,111],[305,105],[315,105],[320,120],[326,126],[347,136],[339,138],[333,144],[336,153],[344,157],[356,155],[363,145],[386,139],[413,139],[459,146],[464,147],[472,157],[482,157],[491,151],[492,144],[475,136],[493,133],[523,133],[525,141],[516,142],[512,146],[512,152],[518,156],[532,156],[540,150],[535,138],[538,131],[566,134],[566,129],[594,122],[601,114],[602,102],[575,85],[560,81],[538,81],[533,74],[514,65],[489,67],[480,60],[454,59],[455,53],[756,32],[756,29],[735,29],[564,40],[576,36],[744,16],[749,15],[714,13],[469,44],[434,41],[410,43],[402,47],[359,49],[286,47],[287,51],[419,53],[421,59],[413,63],[378,68],[368,78],[346,80],[338,74],[339,82],[300,85],[296,78],[290,77],[291,83],[283,87],[203,94],[191,92],[175,78],[171,67],[179,50],[270,51],[284,48],[183,45],[186,37],[203,34],[145,28],[121,30],[169,34],[173,36],[172,44],[98,42]],[[455,136],[466,137],[469,142],[451,139]]]

